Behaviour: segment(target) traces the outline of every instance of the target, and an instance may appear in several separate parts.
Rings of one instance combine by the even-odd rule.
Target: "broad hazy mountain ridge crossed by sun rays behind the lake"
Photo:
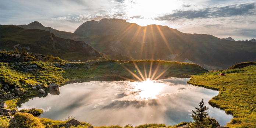
[[[226,69],[233,64],[256,61],[253,42],[182,33],[161,25],[139,26],[123,19],[87,21],[73,35],[57,30],[49,31],[67,39],[83,40],[107,55],[121,53],[141,60],[190,62],[208,70]]]

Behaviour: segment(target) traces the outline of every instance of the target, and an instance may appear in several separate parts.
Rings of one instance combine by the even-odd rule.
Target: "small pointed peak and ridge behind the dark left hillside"
[[[65,38],[65,39],[72,39],[72,37],[74,36],[74,33],[58,31],[51,27],[45,27],[37,21],[31,22],[28,25],[18,25],[18,26],[21,28],[25,28],[25,29],[40,29],[40,30],[50,31],[50,32],[54,33],[56,36],[58,36],[60,38]]]

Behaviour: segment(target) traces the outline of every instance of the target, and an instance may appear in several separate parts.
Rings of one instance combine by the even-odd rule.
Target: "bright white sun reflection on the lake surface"
[[[120,101],[142,101],[157,99],[158,96],[161,96],[164,87],[166,85],[159,81],[150,80],[149,78],[146,81],[135,81],[131,82],[129,88],[127,88],[124,93],[125,97],[122,97],[118,100]]]

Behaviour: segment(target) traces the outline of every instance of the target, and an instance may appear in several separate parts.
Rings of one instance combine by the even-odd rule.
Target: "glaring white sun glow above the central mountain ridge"
[[[126,0],[123,6],[125,6],[125,13],[130,22],[147,26],[159,24],[160,21],[154,18],[177,10],[182,6],[182,3],[178,0]]]

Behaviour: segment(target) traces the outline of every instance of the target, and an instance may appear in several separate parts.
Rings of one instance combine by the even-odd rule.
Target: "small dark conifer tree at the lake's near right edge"
[[[209,107],[204,106],[205,102],[202,101],[199,103],[199,108],[195,107],[196,111],[193,111],[192,118],[194,122],[190,125],[190,128],[211,128],[211,125],[209,124],[209,121],[206,120],[208,117],[207,110]]]

